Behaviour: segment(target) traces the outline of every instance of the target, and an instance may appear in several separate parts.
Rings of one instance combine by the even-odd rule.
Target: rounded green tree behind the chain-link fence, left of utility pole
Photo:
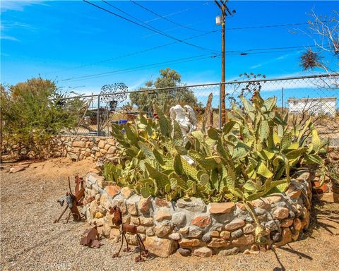
[[[133,104],[136,104],[141,111],[152,112],[155,105],[167,111],[175,104],[188,104],[191,107],[199,107],[194,92],[183,85],[181,86],[181,76],[177,71],[170,68],[160,70],[160,77],[154,82],[148,81],[145,87],[140,88],[138,92],[133,92],[129,95]],[[155,90],[160,88],[174,88],[169,90]],[[145,91],[148,90],[148,91]]]

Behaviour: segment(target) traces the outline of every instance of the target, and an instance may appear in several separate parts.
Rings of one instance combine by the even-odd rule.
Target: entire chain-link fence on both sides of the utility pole
[[[78,126],[73,135],[109,135],[112,123],[132,121],[142,113],[153,117],[153,108],[157,104],[166,114],[169,108],[188,104],[196,113],[198,128],[202,125],[202,116],[210,93],[213,94],[207,126],[220,127],[220,83],[203,85],[182,85],[175,88],[158,88],[132,90],[99,95],[81,95],[85,109],[81,114]],[[299,124],[309,117],[314,121],[322,138],[329,140],[330,145],[339,146],[339,77],[337,76],[304,76],[290,78],[246,78],[245,80],[225,83],[225,104],[230,109],[232,102],[239,102],[240,95],[251,97],[259,89],[261,96],[277,97],[278,110],[290,113]],[[116,97],[124,94],[124,100]],[[119,96],[120,95],[120,96]],[[74,97],[73,97],[74,98]],[[70,98],[72,99],[72,98]]]

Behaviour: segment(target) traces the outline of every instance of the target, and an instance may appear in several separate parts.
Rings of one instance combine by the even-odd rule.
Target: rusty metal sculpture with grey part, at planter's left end
[[[79,176],[76,176],[75,178],[75,183],[76,183],[76,188],[75,188],[75,195],[72,193],[72,189],[71,189],[71,181],[69,179],[69,193],[66,192],[66,196],[59,198],[59,200],[57,200],[57,202],[61,205],[64,206],[64,203],[66,201],[66,207],[64,209],[63,212],[61,212],[61,215],[54,220],[54,223],[59,222],[59,220],[61,219],[61,217],[64,215],[64,213],[66,212],[67,208],[69,208],[69,215],[66,219],[66,223],[69,222],[69,217],[71,217],[71,215],[73,216],[73,220],[78,222],[81,221],[81,215],[80,212],[78,210],[78,206],[79,205],[83,205],[83,198],[85,196],[85,188],[83,186],[84,184],[84,180],[83,178],[80,178]]]

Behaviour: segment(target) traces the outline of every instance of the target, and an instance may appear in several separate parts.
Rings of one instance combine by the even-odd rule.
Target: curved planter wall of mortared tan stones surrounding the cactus
[[[255,244],[256,224],[242,203],[206,205],[199,198],[177,202],[146,199],[95,173],[86,177],[84,212],[89,223],[97,224],[102,237],[117,242],[119,228],[112,224],[112,215],[107,209],[119,206],[124,213],[124,222],[137,225],[146,248],[160,257],[167,257],[177,250],[182,255],[199,257],[239,251],[258,253],[296,241],[309,226],[309,176],[309,172],[301,171],[286,194],[275,193],[251,202],[261,224],[268,229],[266,246]],[[136,245],[133,235],[127,234],[127,240]]]

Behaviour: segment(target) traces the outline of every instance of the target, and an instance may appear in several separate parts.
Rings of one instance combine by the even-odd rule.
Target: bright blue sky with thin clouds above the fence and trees
[[[102,1],[92,2],[126,16]],[[42,78],[57,80],[66,90],[75,88],[77,92],[100,92],[102,85],[117,82],[126,83],[133,89],[146,80],[157,78],[158,70],[167,66],[182,75],[183,83],[220,81],[220,58],[210,57],[220,52],[220,32],[203,35],[220,29],[220,25],[215,25],[219,11],[213,1],[138,1],[186,28],[159,18],[131,1],[109,3],[147,23],[148,27],[178,39],[201,35],[186,42],[207,49],[177,42],[125,56],[176,41],[83,1],[1,1],[1,83],[15,84],[40,74]],[[304,23],[309,20],[312,8],[318,14],[331,14],[334,9],[338,10],[338,1],[230,1],[228,6],[237,13],[227,18],[226,51],[242,52],[314,45],[310,37],[302,34],[306,25],[231,28]],[[304,74],[298,64],[301,52],[287,51],[246,56],[227,54],[226,78],[233,80],[245,71],[266,74],[268,78]],[[189,59],[191,57],[196,59],[193,61]],[[174,61],[177,59],[186,59],[186,62]],[[173,62],[126,70],[165,61]],[[78,78],[111,71],[121,72],[86,80]]]

